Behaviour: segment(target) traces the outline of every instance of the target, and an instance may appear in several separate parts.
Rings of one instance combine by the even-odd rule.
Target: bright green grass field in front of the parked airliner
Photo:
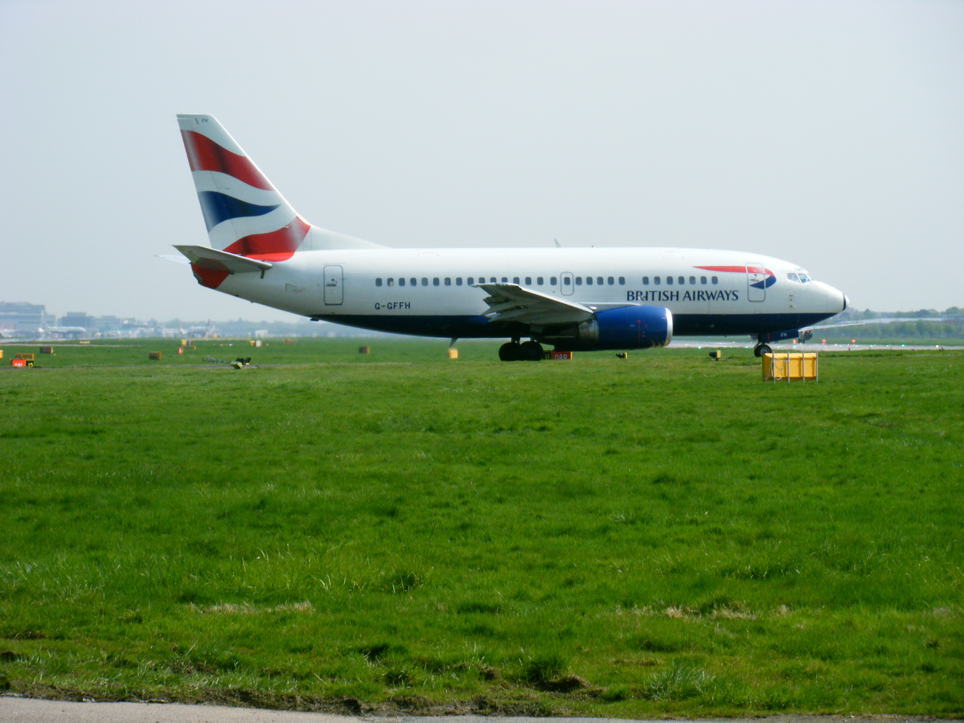
[[[0,370],[0,687],[964,711],[964,354],[822,354],[773,385],[742,350],[219,343]]]

